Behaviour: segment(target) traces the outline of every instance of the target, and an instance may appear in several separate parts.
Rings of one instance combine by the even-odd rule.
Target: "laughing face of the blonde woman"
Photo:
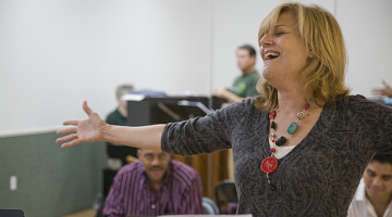
[[[262,76],[275,88],[303,84],[301,73],[311,55],[301,39],[295,16],[283,12],[275,26],[260,39]]]

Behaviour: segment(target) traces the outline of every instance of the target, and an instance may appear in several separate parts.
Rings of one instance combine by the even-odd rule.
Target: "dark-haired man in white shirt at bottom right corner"
[[[376,154],[350,205],[348,217],[392,216],[392,155]]]

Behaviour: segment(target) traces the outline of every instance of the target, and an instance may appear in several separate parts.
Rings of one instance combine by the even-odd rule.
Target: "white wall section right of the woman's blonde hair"
[[[340,0],[336,9],[348,51],[346,84],[371,97],[382,79],[392,85],[392,1]]]

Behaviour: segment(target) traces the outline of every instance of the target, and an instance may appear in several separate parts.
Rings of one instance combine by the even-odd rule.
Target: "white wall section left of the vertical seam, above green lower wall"
[[[102,116],[114,89],[209,91],[207,0],[1,0],[0,135]]]

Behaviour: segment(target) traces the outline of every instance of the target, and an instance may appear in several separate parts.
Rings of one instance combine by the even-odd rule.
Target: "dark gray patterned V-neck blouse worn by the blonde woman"
[[[350,95],[326,105],[307,137],[279,159],[269,175],[260,170],[270,155],[268,113],[254,99],[205,117],[170,123],[162,150],[182,155],[233,149],[238,214],[262,217],[345,217],[367,163],[392,150],[392,110]]]

